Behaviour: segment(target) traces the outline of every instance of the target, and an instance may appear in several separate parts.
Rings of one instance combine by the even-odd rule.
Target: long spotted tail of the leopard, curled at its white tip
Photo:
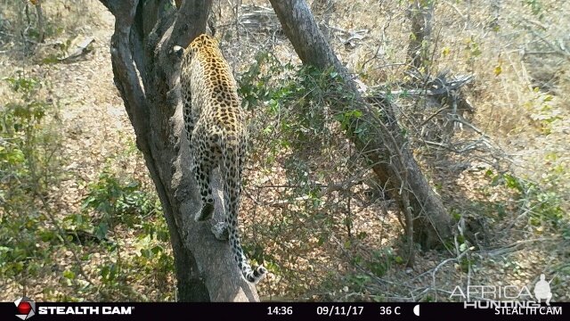
[[[225,223],[229,232],[230,246],[232,247],[233,258],[240,268],[241,275],[248,282],[256,284],[265,277],[267,269],[263,266],[251,268],[241,248],[240,232],[238,230],[241,170],[243,168],[243,155],[241,155],[241,152],[245,152],[243,151],[245,144],[240,142],[236,136],[226,136],[221,143],[224,163],[221,164],[220,168],[224,178]]]

